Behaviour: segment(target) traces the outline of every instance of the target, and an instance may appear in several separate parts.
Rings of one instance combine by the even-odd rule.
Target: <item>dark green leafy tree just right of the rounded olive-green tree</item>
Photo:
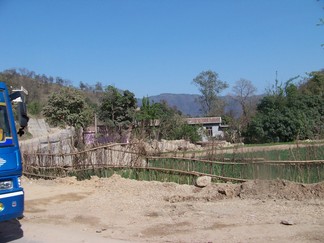
[[[121,133],[133,123],[136,106],[132,92],[128,90],[120,92],[110,85],[103,94],[98,117],[108,127],[115,128]]]

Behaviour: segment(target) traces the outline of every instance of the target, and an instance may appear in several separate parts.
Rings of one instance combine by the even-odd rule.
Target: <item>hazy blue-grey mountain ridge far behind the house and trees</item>
[[[159,103],[165,101],[170,107],[175,107],[182,112],[183,115],[191,117],[202,116],[201,106],[197,102],[199,95],[196,94],[169,94],[164,93],[155,96],[149,96],[150,101]],[[262,96],[255,96],[253,99],[257,102]],[[242,114],[240,104],[231,96],[222,96],[225,102],[225,112],[231,112],[235,116]],[[142,105],[141,99],[138,99],[138,106]]]

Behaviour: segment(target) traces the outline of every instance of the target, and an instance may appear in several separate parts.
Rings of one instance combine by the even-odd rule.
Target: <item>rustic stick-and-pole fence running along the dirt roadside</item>
[[[109,177],[114,173],[137,180],[172,181],[193,184],[197,176],[211,176],[213,181],[241,182],[249,179],[286,179],[302,183],[324,180],[324,160],[212,161],[179,157],[151,157],[139,144],[110,144],[79,152],[52,153],[24,151],[26,176],[56,178],[92,175]]]

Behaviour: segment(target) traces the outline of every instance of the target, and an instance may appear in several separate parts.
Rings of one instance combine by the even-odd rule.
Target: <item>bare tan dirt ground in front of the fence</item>
[[[24,178],[25,217],[0,242],[324,242],[324,183],[204,188],[113,175]]]

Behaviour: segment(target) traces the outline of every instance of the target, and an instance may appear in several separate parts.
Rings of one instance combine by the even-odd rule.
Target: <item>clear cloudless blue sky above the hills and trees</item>
[[[324,1],[0,0],[0,71],[26,68],[135,96],[198,94],[218,73],[258,93],[324,68]]]

